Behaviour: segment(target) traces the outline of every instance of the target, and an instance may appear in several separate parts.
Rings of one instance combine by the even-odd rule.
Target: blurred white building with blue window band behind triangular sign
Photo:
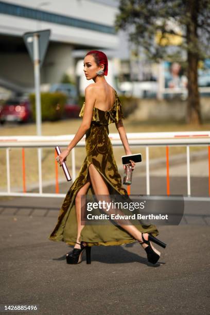
[[[28,31],[51,30],[42,83],[60,82],[64,73],[74,79],[77,60],[92,49],[128,60],[125,34],[113,27],[117,12],[118,0],[0,1],[0,86],[33,88],[33,65],[23,42]],[[128,74],[128,64],[124,68]]]

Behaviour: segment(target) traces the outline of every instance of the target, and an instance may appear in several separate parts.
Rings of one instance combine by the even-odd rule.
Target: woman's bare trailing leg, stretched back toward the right
[[[109,195],[109,189],[101,174],[97,171],[93,164],[89,166],[89,173],[91,183],[94,189],[95,195]],[[136,240],[142,242],[142,234],[134,225],[120,225],[123,229],[128,231]],[[144,233],[144,238],[148,240],[148,233]],[[146,248],[147,244],[141,244],[143,248]]]

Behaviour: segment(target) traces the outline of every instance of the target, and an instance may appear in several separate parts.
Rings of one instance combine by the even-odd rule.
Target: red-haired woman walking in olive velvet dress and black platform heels
[[[122,123],[124,115],[120,100],[104,78],[108,74],[107,56],[102,51],[89,51],[84,58],[84,74],[87,80],[92,79],[94,83],[85,89],[85,102],[79,114],[82,117],[81,125],[71,143],[58,156],[58,162],[62,165],[84,134],[86,157],[66,194],[58,222],[49,239],[74,245],[73,251],[66,254],[68,264],[80,263],[83,251],[86,251],[87,264],[90,264],[92,246],[114,246],[136,240],[146,251],[148,261],[155,264],[160,252],[152,246],[151,241],[164,248],[166,246],[154,237],[159,234],[155,225],[81,225],[82,195],[128,195],[122,187],[114,159],[109,124],[115,122],[126,155],[132,154]],[[130,162],[133,170],[135,163]]]

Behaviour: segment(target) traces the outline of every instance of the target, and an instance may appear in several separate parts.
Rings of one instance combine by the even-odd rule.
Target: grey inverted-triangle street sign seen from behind
[[[28,49],[29,56],[32,60],[34,61],[34,36],[37,36],[39,39],[39,63],[40,63],[40,68],[43,64],[44,57],[46,55],[47,51],[47,46],[49,43],[49,36],[50,36],[50,29],[45,29],[41,31],[36,31],[36,32],[27,32],[23,35],[23,39],[25,42],[25,45]]]

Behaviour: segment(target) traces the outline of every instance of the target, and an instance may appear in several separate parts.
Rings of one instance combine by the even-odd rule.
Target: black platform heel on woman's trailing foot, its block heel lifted
[[[151,264],[156,264],[161,256],[161,253],[156,250],[155,248],[152,247],[152,244],[150,243],[150,241],[153,241],[154,243],[156,244],[159,244],[161,247],[165,248],[166,247],[166,244],[164,242],[162,242],[161,240],[159,240],[158,238],[154,237],[153,235],[150,235],[148,236],[148,240],[146,240],[144,238],[144,235],[142,233],[142,239],[143,239],[143,242],[140,242],[141,244],[145,243],[147,244],[148,246],[145,248],[145,251],[147,253],[147,259],[149,261],[149,263]]]

